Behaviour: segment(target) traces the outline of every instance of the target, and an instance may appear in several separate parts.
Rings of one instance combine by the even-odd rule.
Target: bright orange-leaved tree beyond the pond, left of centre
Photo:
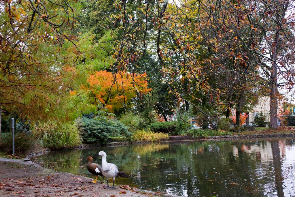
[[[114,75],[111,72],[96,71],[89,76],[87,82],[89,83],[88,88],[96,99],[109,112],[114,112],[123,108],[137,93],[141,96],[150,91],[147,88],[148,82],[145,77],[145,73],[139,75],[122,71],[117,73],[116,82],[114,83]]]

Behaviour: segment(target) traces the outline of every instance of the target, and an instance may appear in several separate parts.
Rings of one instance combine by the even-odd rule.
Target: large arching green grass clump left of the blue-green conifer
[[[54,150],[81,144],[78,128],[71,123],[39,122],[33,129],[33,134],[40,139],[42,147]]]

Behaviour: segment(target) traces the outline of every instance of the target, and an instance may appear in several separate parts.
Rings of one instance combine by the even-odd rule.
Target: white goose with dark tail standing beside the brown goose
[[[109,178],[113,178],[113,187],[114,187],[114,182],[116,177],[129,177],[124,171],[119,172],[118,167],[114,164],[106,162],[106,153],[104,151],[101,151],[98,153],[101,158],[101,168],[102,168],[102,174],[106,177],[106,183],[107,187],[106,188],[111,188],[109,187]]]

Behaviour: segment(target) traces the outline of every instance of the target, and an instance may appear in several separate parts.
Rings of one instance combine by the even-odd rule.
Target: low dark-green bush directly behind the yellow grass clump
[[[154,132],[168,133],[168,135],[176,135],[176,125],[175,122],[155,122],[146,126]]]

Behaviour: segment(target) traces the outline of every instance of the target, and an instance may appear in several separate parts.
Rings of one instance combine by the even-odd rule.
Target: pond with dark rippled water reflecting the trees
[[[42,166],[92,177],[86,157],[99,151],[119,171],[116,183],[179,196],[295,196],[295,139],[186,141],[51,152]],[[101,180],[101,178],[99,178]]]

